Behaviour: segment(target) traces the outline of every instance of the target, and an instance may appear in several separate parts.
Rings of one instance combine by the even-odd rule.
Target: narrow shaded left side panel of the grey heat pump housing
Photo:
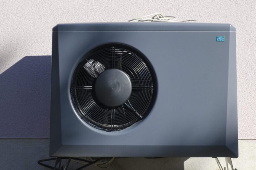
[[[51,70],[50,156],[61,146],[58,32],[53,32]]]

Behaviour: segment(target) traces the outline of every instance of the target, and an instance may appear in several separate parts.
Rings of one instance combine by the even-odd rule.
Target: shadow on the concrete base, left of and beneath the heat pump
[[[49,170],[49,168],[45,168],[37,164],[38,160],[49,158],[49,139],[0,139],[0,155],[5,155],[0,159],[1,169]],[[193,167],[185,164],[187,159],[188,158],[115,158],[112,164],[116,170],[193,169]],[[61,162],[62,165],[65,165],[67,160],[62,160]],[[44,163],[54,166],[54,161]],[[212,165],[211,162],[208,163]],[[212,169],[217,169],[217,164],[215,164],[216,162],[213,161],[213,163],[215,168]],[[207,163],[204,162],[204,164]],[[76,169],[82,165],[83,164],[71,161],[68,169]],[[114,170],[111,165],[102,165],[102,167],[105,166],[108,166],[105,170]],[[90,165],[85,169],[104,170],[96,165]]]

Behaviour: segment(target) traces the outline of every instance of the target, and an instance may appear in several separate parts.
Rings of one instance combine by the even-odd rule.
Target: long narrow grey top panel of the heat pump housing
[[[235,31],[231,24],[189,22],[105,22],[58,24],[53,31]]]

